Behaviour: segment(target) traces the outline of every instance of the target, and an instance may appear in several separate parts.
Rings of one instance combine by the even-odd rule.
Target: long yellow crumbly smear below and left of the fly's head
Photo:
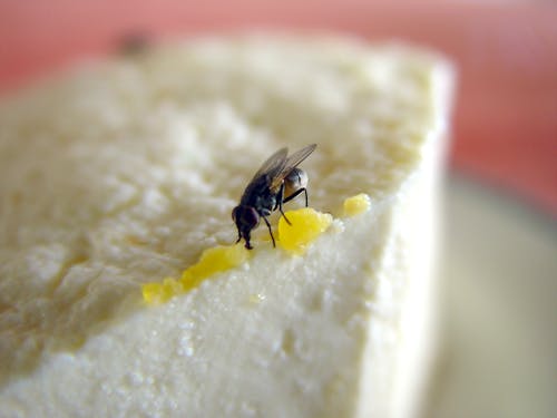
[[[143,298],[148,304],[159,304],[170,298],[190,291],[215,273],[244,263],[250,252],[242,245],[215,246],[205,250],[199,261],[186,269],[180,279],[167,278],[163,282],[145,283]]]

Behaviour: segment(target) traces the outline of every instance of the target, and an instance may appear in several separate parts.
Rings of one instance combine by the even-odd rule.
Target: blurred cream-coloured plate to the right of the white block
[[[441,356],[426,416],[557,417],[557,222],[446,186]]]

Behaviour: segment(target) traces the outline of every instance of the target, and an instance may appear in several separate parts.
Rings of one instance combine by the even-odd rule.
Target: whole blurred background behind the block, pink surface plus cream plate
[[[0,0],[0,96],[130,33],[267,29],[402,40],[456,62],[443,350],[424,414],[557,416],[556,2]]]

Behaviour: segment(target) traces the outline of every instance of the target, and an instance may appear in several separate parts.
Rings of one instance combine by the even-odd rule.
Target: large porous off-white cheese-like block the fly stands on
[[[256,36],[89,64],[6,99],[1,415],[414,415],[449,91],[429,52]],[[310,206],[339,217],[364,193],[369,207],[297,254],[262,225],[240,264],[197,266],[209,278],[174,295],[235,242],[231,211],[265,158],[311,143]],[[166,303],[146,303],[141,285],[165,278]]]

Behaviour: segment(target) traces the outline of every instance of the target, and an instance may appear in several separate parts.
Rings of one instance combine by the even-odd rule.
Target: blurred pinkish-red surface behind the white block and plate
[[[451,166],[557,215],[557,7],[550,2],[0,0],[0,93],[121,36],[311,29],[433,47],[459,67]]]

